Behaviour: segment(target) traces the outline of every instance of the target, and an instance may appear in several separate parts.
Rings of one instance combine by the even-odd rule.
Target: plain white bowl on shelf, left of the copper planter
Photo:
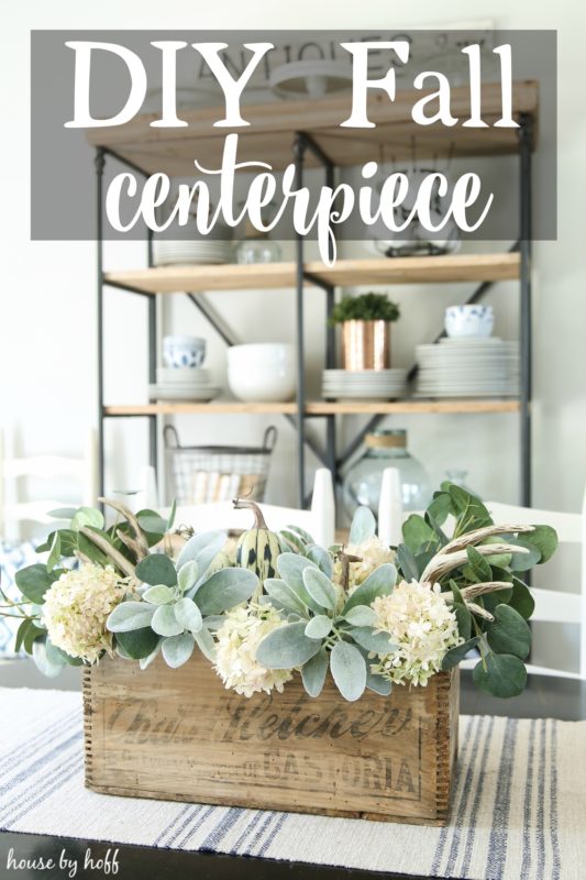
[[[294,346],[286,343],[233,345],[228,350],[228,384],[246,403],[290,400],[296,389]]]

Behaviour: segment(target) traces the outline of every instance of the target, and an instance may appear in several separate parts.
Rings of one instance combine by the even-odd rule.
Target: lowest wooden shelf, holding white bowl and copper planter
[[[518,413],[519,402],[513,399],[460,399],[460,400],[396,400],[396,402],[325,402],[310,400],[306,406],[308,416],[390,416],[418,414],[461,414],[474,415],[486,413]],[[295,415],[297,404],[242,404],[237,400],[198,403],[159,402],[154,404],[114,405],[104,408],[107,416],[179,416],[185,414],[200,415]]]

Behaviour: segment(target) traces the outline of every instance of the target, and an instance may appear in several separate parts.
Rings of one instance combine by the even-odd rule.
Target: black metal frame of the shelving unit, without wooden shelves
[[[532,120],[529,116],[522,114],[519,119],[519,241],[516,242],[510,251],[519,251],[520,254],[520,442],[519,442],[519,473],[520,473],[520,503],[523,506],[531,506],[531,358],[532,358],[532,326],[531,326],[531,234],[532,234],[532,200],[531,200],[531,145],[532,145]],[[325,185],[333,188],[334,165],[324,154],[321,147],[306,132],[296,132],[292,141],[292,157],[296,166],[296,185],[301,187],[303,184],[305,160],[307,152],[311,152],[319,161],[324,172]],[[148,173],[129,160],[118,155],[114,151],[99,146],[96,151],[96,182],[97,182],[97,305],[98,305],[98,472],[100,495],[104,493],[104,420],[109,418],[104,404],[104,302],[103,288],[106,286],[146,297],[147,304],[147,375],[148,382],[156,381],[156,346],[157,346],[157,312],[156,295],[146,294],[144,290],[132,287],[131,285],[109,280],[103,271],[103,245],[104,245],[104,224],[103,224],[103,172],[107,157],[115,160],[143,177]],[[148,231],[146,239],[147,265],[153,265],[153,233]],[[308,496],[306,493],[306,447],[316,455],[320,464],[329,468],[334,481],[340,483],[341,472],[347,461],[356,452],[365,436],[374,430],[385,415],[376,415],[371,418],[363,428],[356,433],[346,448],[338,454],[336,451],[336,420],[335,415],[309,416],[306,413],[306,374],[305,374],[305,287],[307,282],[320,287],[325,294],[325,314],[330,317],[335,302],[335,288],[325,284],[305,271],[305,240],[302,235],[297,237],[296,241],[296,324],[297,324],[297,414],[295,416],[284,415],[284,418],[291,424],[298,435],[297,443],[297,474],[299,487],[299,504],[307,506]],[[479,301],[490,289],[494,282],[480,284],[466,300],[467,302]],[[186,292],[186,296],[191,304],[208,320],[210,326],[225,342],[226,345],[237,344],[239,340],[219,321],[218,316],[201,296]],[[441,332],[435,338],[435,342],[444,333]],[[335,331],[325,321],[325,366],[335,366]],[[417,375],[417,365],[413,365],[408,374],[409,382],[413,382]],[[150,463],[157,469],[158,437],[156,415],[132,415],[125,418],[147,418],[148,419],[148,450]],[[308,418],[320,418],[325,420],[325,444],[322,450],[316,440],[308,435]]]

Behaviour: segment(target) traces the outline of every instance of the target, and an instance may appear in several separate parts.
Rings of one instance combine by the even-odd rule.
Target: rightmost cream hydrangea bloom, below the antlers
[[[396,684],[425,685],[441,670],[445,652],[464,641],[439,584],[403,581],[390,596],[375,598],[372,607],[377,615],[375,629],[388,632],[397,646],[372,670]]]

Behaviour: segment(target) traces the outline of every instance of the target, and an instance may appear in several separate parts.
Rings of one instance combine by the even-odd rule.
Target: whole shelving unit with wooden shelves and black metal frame
[[[347,96],[317,101],[286,101],[246,108],[251,130],[241,133],[239,161],[268,162],[275,169],[295,162],[296,183],[302,186],[306,167],[321,166],[329,185],[333,183],[335,167],[347,167],[377,157],[378,145],[386,144],[396,160],[409,157],[412,139],[417,138],[419,158],[441,153],[446,145],[446,134],[438,125],[422,130],[410,118],[414,98],[411,94],[398,95],[394,103],[382,96],[371,96],[369,118],[375,129],[356,132],[341,129],[340,121],[347,116]],[[146,417],[150,424],[151,463],[157,462],[157,417],[168,415],[233,415],[275,414],[292,422],[298,432],[298,475],[300,502],[305,501],[306,446],[329,466],[334,475],[362,443],[367,431],[382,418],[396,414],[517,414],[520,419],[520,499],[531,502],[531,152],[535,146],[539,95],[534,82],[516,82],[512,91],[513,116],[519,129],[466,129],[455,125],[450,130],[449,143],[457,156],[511,155],[519,156],[520,217],[519,242],[508,253],[456,254],[450,256],[338,260],[328,267],[321,262],[306,261],[303,240],[297,241],[295,262],[266,265],[168,266],[153,267],[152,239],[147,242],[147,268],[130,272],[103,270],[103,169],[107,158],[123,162],[133,170],[148,176],[156,170],[169,175],[192,175],[194,157],[208,167],[218,164],[221,139],[228,130],[214,129],[218,113],[213,109],[188,111],[183,118],[187,128],[153,129],[153,116],[140,117],[119,128],[90,131],[90,142],[96,146],[98,195],[98,348],[99,348],[99,448],[100,483],[103,490],[103,421],[107,418]],[[452,90],[452,111],[464,118],[469,110],[467,88]],[[490,122],[500,116],[500,88],[483,87],[483,117]],[[292,142],[292,152],[291,152]],[[308,400],[305,376],[303,298],[306,287],[321,288],[325,293],[325,310],[334,305],[335,287],[358,285],[476,283],[478,287],[467,301],[478,301],[490,286],[500,280],[520,283],[520,350],[521,388],[519,399],[460,399],[460,400],[399,400],[394,403]],[[222,339],[231,344],[230,331],[221,327],[213,312],[204,307],[198,294],[220,290],[296,290],[298,388],[297,399],[290,404],[243,404],[214,400],[201,403],[159,402],[109,406],[103,398],[103,287],[145,297],[148,308],[148,381],[156,375],[156,297],[184,294],[208,318]],[[324,321],[324,326],[327,322]],[[334,330],[325,326],[325,366],[335,366]],[[414,376],[417,369],[410,372]],[[349,447],[336,448],[336,417],[367,415],[371,418]],[[325,449],[309,439],[306,420],[321,418],[325,421]]]

